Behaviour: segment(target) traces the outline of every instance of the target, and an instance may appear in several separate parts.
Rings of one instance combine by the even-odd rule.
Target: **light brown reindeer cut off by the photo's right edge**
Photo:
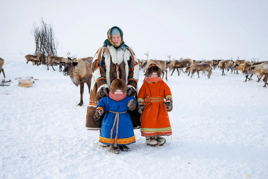
[[[268,62],[264,62],[264,63],[261,63],[259,65],[250,66],[248,68],[248,70],[245,72],[245,75],[249,75],[249,74],[255,74],[257,76],[260,76],[258,82],[260,81],[262,76],[264,76],[262,81],[265,82],[265,85],[263,87],[266,87],[266,84],[268,85],[268,83],[267,83],[267,79],[268,79]]]

